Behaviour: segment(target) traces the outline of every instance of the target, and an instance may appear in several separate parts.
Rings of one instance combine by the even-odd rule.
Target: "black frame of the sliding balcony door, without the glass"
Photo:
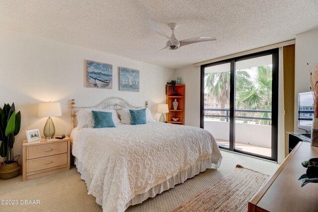
[[[201,66],[201,82],[200,82],[200,128],[204,128],[204,87],[205,87],[205,68],[230,63],[230,146],[229,148],[219,146],[220,148],[230,151],[240,152],[260,158],[277,161],[277,136],[278,136],[278,48],[257,52],[249,55],[239,56],[215,63],[205,64]],[[259,155],[251,152],[235,149],[235,74],[236,62],[258,58],[262,56],[272,55],[272,129],[271,129],[271,157]]]

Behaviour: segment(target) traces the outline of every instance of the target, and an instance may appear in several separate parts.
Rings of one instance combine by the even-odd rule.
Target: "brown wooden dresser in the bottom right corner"
[[[248,212],[318,212],[318,184],[303,188],[299,177],[307,168],[301,162],[318,157],[318,147],[299,142],[275,174],[248,203]]]

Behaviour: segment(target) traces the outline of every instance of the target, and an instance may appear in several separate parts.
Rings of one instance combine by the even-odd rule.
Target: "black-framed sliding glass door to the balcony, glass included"
[[[220,148],[277,161],[278,49],[201,67],[201,128]]]

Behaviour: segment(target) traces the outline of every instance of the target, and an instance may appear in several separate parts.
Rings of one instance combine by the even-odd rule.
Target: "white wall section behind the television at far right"
[[[295,45],[295,131],[298,129],[298,94],[310,91],[309,66],[318,63],[318,30],[296,35]]]

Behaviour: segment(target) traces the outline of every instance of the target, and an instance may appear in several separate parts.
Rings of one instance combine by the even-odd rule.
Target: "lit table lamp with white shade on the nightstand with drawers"
[[[49,117],[43,129],[45,139],[53,139],[55,127],[51,117],[62,116],[61,104],[59,102],[41,102],[39,103],[38,117]]]

